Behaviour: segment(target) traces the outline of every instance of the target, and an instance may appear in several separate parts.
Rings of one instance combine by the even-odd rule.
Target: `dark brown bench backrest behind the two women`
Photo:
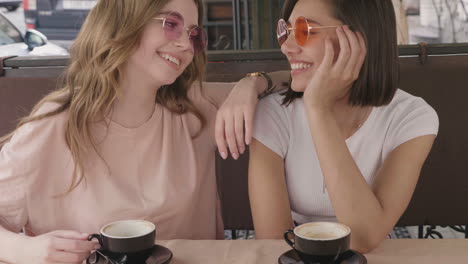
[[[278,51],[209,55],[208,81],[235,81],[245,73],[287,69]],[[0,135],[13,128],[56,86],[66,58],[6,60],[0,77]],[[440,119],[439,136],[415,194],[398,226],[465,226],[468,238],[468,44],[400,47],[400,88],[421,96]],[[0,71],[1,72],[1,71]],[[225,229],[253,229],[247,191],[248,153],[216,160]],[[460,227],[462,228],[462,227]]]

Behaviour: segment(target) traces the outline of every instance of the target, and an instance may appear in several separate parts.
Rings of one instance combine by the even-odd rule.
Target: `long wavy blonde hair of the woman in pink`
[[[22,125],[68,111],[65,139],[75,161],[69,193],[85,179],[84,157],[89,147],[97,151],[91,124],[103,120],[112,110],[120,93],[124,66],[136,51],[144,27],[170,0],[100,0],[91,10],[71,48],[70,64],[62,78],[63,87],[45,96],[31,114],[20,120]],[[198,8],[198,23],[203,22],[202,0],[193,0]],[[155,103],[177,114],[192,113],[205,126],[205,118],[190,101],[187,91],[202,81],[206,53],[196,53],[192,63],[171,85],[161,87]],[[45,114],[36,114],[45,103],[60,106]],[[16,132],[0,138],[0,146]],[[102,157],[101,157],[102,158]]]

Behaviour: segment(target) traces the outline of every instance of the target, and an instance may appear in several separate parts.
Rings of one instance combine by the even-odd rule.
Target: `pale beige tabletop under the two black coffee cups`
[[[282,240],[157,241],[171,264],[275,264],[289,246]],[[369,264],[468,263],[468,239],[387,239],[365,255]]]

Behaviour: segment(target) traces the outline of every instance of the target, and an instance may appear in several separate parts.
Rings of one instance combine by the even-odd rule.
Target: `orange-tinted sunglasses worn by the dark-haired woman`
[[[307,40],[310,39],[310,36],[317,34],[320,29],[325,28],[337,28],[340,26],[313,26],[311,21],[307,18],[301,16],[296,19],[294,27],[291,27],[289,22],[286,22],[284,19],[278,20],[278,26],[276,28],[276,37],[278,38],[278,43],[280,47],[288,39],[291,32],[294,33],[296,38],[296,43],[299,46],[304,46]]]

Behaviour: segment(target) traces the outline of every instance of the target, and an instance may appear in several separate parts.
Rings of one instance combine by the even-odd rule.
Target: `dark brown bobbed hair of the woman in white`
[[[391,0],[323,0],[336,19],[363,33],[367,57],[358,79],[354,82],[349,104],[382,106],[389,104],[399,81],[398,44],[395,11]],[[289,20],[298,0],[286,0],[282,18]],[[289,88],[283,93],[284,105],[303,96]]]

